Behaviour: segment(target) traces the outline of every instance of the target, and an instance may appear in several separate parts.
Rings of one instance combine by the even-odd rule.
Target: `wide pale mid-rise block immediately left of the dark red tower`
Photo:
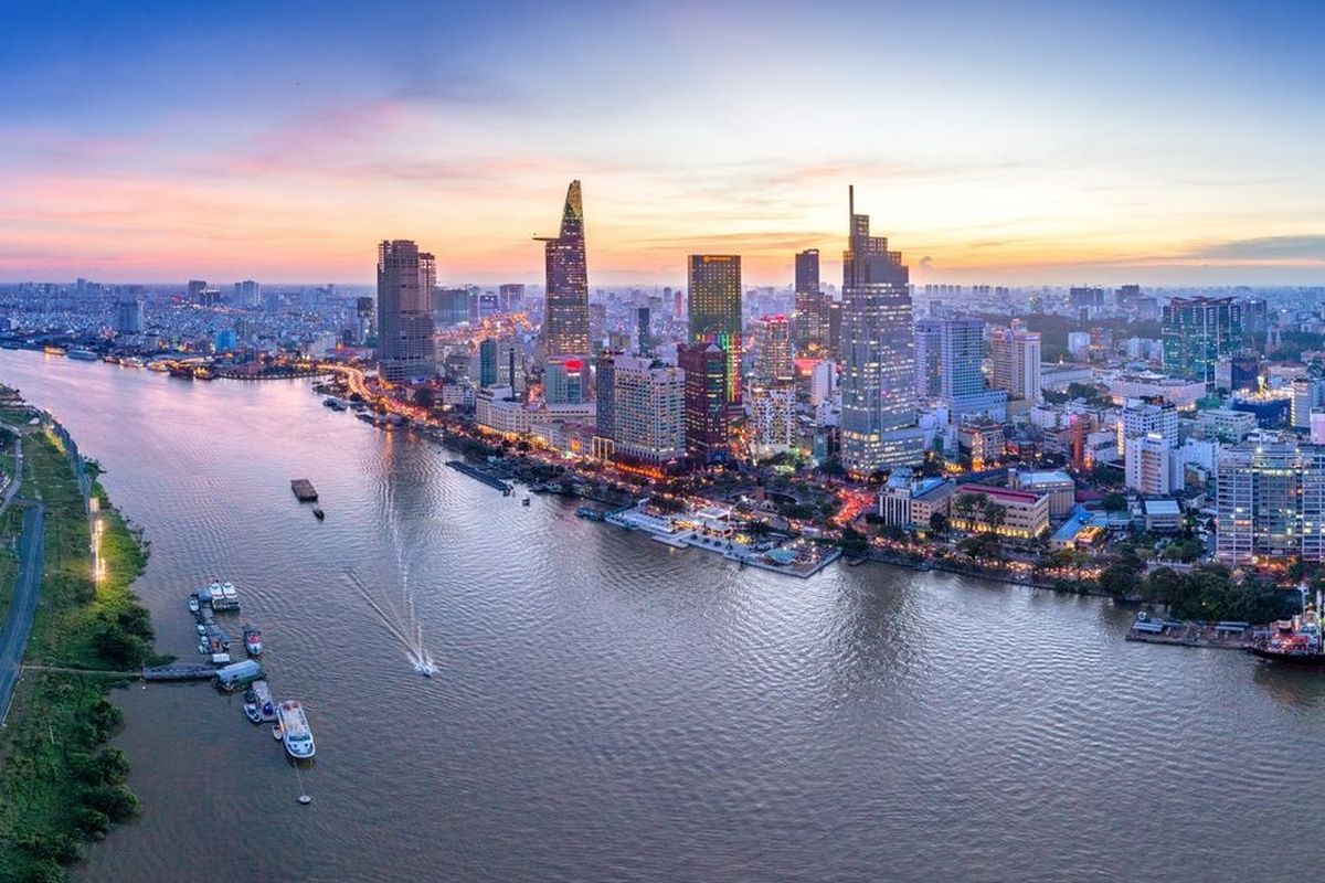
[[[617,356],[612,369],[616,458],[668,463],[685,455],[685,372],[652,359]]]

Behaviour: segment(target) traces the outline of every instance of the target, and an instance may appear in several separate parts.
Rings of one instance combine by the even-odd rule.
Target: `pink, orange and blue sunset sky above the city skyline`
[[[1325,282],[1325,3],[12,3],[0,279]]]

